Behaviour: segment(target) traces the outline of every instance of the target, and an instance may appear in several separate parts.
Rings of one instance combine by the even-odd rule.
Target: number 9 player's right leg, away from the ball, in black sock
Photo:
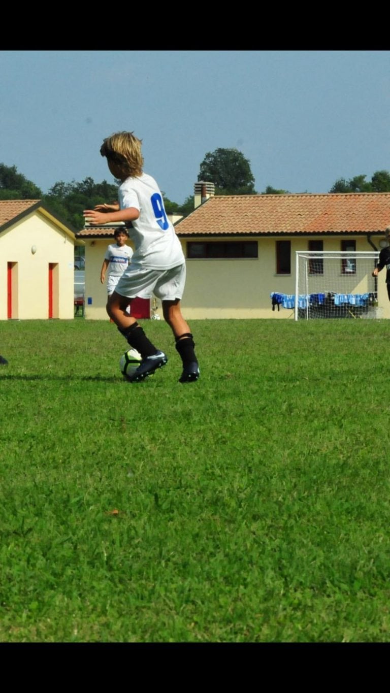
[[[179,378],[180,383],[191,383],[200,376],[199,364],[195,356],[195,344],[190,327],[183,315],[179,299],[175,301],[161,301],[163,317],[168,322],[176,340],[176,349],[183,362],[183,372]]]

